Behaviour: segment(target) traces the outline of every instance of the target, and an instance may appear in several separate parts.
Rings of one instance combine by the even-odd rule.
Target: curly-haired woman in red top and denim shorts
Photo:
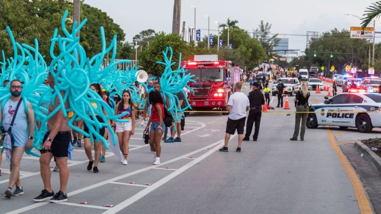
[[[160,164],[160,153],[161,146],[160,141],[163,136],[163,130],[165,129],[164,125],[164,101],[161,97],[160,92],[151,91],[148,95],[149,103],[152,104],[151,115],[147,126],[144,131],[146,131],[151,124],[151,131],[149,132],[149,145],[151,146],[151,151],[154,154],[154,165]]]

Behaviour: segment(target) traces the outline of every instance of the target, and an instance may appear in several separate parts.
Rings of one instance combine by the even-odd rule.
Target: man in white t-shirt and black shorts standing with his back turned
[[[226,122],[225,145],[220,152],[228,152],[228,143],[230,135],[238,132],[238,147],[236,152],[241,152],[242,139],[244,138],[244,129],[246,121],[246,111],[250,109],[250,102],[247,95],[241,92],[242,84],[234,85],[235,93],[232,94],[228,101],[227,109],[230,111],[228,121]]]

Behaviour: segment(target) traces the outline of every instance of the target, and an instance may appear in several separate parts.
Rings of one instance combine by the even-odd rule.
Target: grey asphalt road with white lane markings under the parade
[[[312,95],[312,101],[320,103],[325,94]],[[272,106],[276,102],[275,98]],[[294,110],[290,104],[287,111]],[[352,128],[320,127],[307,129],[305,141],[290,141],[294,114],[263,113],[258,141],[244,142],[242,152],[236,153],[238,137],[234,135],[229,152],[222,153],[218,149],[226,121],[227,116],[221,114],[192,113],[186,118],[183,142],[162,143],[162,164],[157,166],[152,165],[152,153],[141,140],[143,127],[139,125],[130,141],[128,165],[121,165],[108,152],[106,162],[99,163],[100,173],[95,174],[86,170],[83,148],[75,148],[74,160],[69,161],[67,203],[33,202],[43,189],[39,161],[24,156],[21,182],[25,194],[10,200],[0,197],[0,213],[360,213],[354,186],[329,132],[333,143],[340,144],[374,137],[380,129],[364,135]],[[1,168],[0,191],[5,191],[9,177],[5,159]],[[58,172],[52,172],[52,184],[57,192]]]

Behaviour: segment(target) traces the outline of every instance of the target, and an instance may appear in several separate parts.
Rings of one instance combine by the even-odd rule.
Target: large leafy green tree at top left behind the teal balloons
[[[34,38],[38,39],[39,51],[46,55],[49,63],[50,39],[55,28],[61,28],[61,18],[66,9],[69,10],[66,27],[71,30],[73,5],[66,0],[1,0],[0,4],[0,50],[4,50],[6,57],[13,56],[9,36],[5,30],[8,25],[19,43],[34,45]],[[81,20],[87,18],[86,25],[81,29],[81,45],[91,57],[102,50],[100,43],[100,26],[105,29],[107,45],[117,34],[118,53],[121,56],[125,33],[120,26],[114,23],[107,13],[81,2]]]

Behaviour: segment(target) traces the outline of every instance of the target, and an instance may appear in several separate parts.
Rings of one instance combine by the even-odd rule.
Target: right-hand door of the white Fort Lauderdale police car
[[[361,108],[361,104],[363,103],[363,100],[360,96],[350,94],[347,98],[347,101],[345,104],[341,107],[341,124],[344,126],[352,126],[355,127],[355,119],[357,113],[351,113],[351,111],[361,111],[365,110],[364,108]]]

